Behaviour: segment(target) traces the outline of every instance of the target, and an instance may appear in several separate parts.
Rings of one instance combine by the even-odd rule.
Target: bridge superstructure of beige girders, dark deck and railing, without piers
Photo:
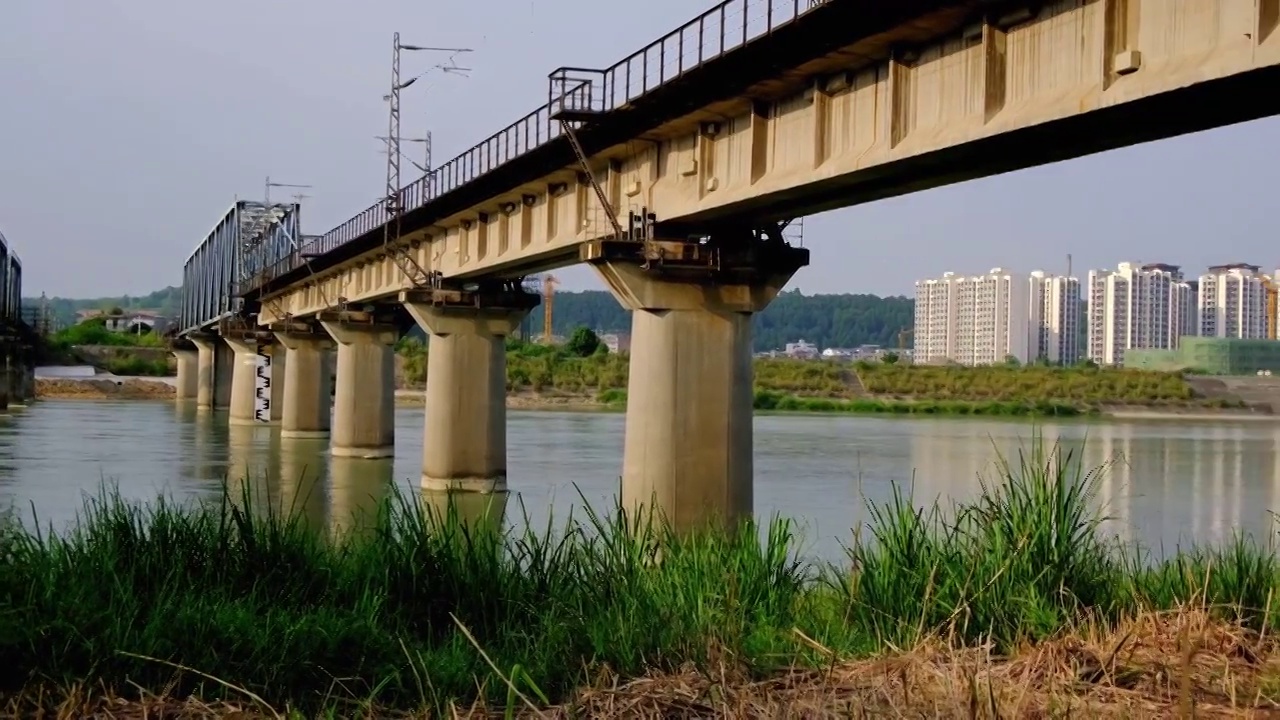
[[[608,234],[605,206],[681,237],[1280,114],[1280,0],[831,0],[769,22],[753,40],[749,17],[745,41],[691,63],[685,31],[668,36],[639,54],[654,87],[627,64],[553,73],[538,113],[406,188],[413,261],[527,275]],[[645,65],[671,67],[671,44],[680,72]],[[607,201],[554,132],[566,111],[586,120]],[[274,265],[243,310],[270,323],[397,297],[411,283],[379,252],[381,213]]]

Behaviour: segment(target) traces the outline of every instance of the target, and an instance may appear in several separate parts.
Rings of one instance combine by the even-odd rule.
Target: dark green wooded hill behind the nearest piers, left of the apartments
[[[899,331],[914,322],[914,309],[908,297],[787,291],[755,316],[755,350],[777,350],[801,338],[819,347],[896,346]],[[630,314],[605,291],[557,292],[552,322],[559,336],[577,327],[602,333],[631,329]],[[527,327],[532,334],[541,332],[543,307],[530,314]]]

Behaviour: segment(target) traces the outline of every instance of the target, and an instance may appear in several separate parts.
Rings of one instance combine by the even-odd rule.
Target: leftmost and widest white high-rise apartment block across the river
[[[915,283],[915,361],[991,365],[1030,356],[1028,283],[1002,268]]]

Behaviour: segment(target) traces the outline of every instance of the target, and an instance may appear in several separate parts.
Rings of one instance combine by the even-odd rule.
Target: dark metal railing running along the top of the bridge
[[[653,92],[658,87],[705,63],[772,33],[831,0],[724,0],[673,32],[650,42],[604,70],[561,68],[552,81],[566,83],[559,97],[534,110],[479,145],[403,187],[397,202],[406,211],[474,182],[498,167],[541,147],[562,135],[553,115],[563,109],[607,113]],[[553,92],[554,95],[554,92]],[[389,215],[387,202],[366,208],[346,223],[324,233],[301,252],[291,254],[264,273],[266,279],[294,270],[302,256],[317,258],[380,228]]]

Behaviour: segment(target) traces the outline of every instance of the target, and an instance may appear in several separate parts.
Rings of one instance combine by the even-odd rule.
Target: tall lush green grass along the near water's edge
[[[1263,610],[1280,580],[1270,550],[1240,539],[1140,561],[1101,534],[1098,477],[1033,442],[972,502],[920,510],[897,493],[874,507],[841,568],[796,559],[781,519],[677,537],[586,512],[499,533],[401,497],[326,539],[270,509],[104,493],[65,534],[0,525],[0,691],[236,694],[177,665],[276,707],[439,710],[511,702],[493,667],[554,702],[605,671],[829,661],[796,629],[858,656],[934,633],[1011,648],[1184,602],[1277,619]]]

